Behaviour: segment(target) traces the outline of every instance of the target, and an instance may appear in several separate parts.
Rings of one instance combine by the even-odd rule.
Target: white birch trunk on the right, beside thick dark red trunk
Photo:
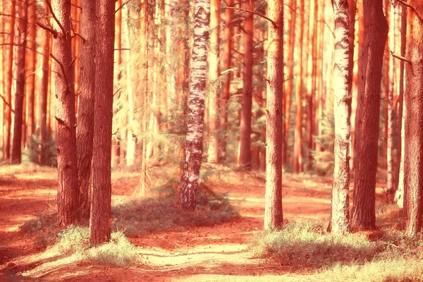
[[[333,116],[335,119],[335,144],[333,164],[333,189],[331,232],[347,233],[350,220],[350,113],[348,94],[350,45],[348,43],[350,20],[348,0],[332,0],[335,13],[335,64],[333,78]]]

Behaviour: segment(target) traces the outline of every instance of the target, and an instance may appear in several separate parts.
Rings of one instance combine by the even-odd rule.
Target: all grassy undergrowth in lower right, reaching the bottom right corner
[[[420,235],[384,230],[372,240],[364,233],[339,236],[325,229],[317,221],[293,221],[281,231],[255,235],[250,250],[293,269],[314,269],[321,281],[423,281]]]

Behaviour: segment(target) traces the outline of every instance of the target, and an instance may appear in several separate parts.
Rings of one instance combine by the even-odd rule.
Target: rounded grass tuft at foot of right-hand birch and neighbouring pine
[[[331,235],[317,221],[294,221],[282,231],[256,235],[250,248],[258,257],[282,265],[321,268],[340,262],[362,264],[374,257],[378,245],[364,235]]]

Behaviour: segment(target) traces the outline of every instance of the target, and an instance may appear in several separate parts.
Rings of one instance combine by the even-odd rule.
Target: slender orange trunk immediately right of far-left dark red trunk
[[[29,142],[30,137],[35,133],[35,71],[37,66],[37,53],[35,52],[37,38],[37,25],[35,25],[37,5],[32,1],[29,6],[28,23],[29,23],[29,40],[27,42],[27,130],[25,139]],[[30,148],[32,149],[32,148]]]

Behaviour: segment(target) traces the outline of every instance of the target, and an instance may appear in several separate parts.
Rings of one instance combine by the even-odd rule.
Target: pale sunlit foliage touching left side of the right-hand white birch
[[[315,142],[321,145],[321,152],[312,152],[314,170],[321,176],[333,173],[334,135],[335,119],[333,107],[329,106],[323,111],[323,117],[321,118],[321,135],[314,136]]]

